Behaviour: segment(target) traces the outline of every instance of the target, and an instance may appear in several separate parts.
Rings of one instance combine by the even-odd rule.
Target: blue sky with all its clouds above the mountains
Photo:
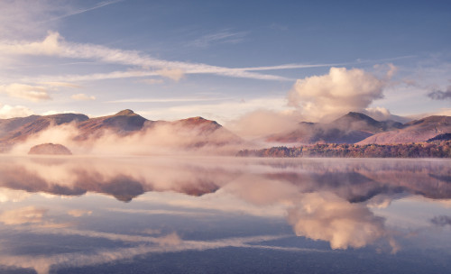
[[[450,1],[2,0],[0,118],[451,115],[449,30]]]

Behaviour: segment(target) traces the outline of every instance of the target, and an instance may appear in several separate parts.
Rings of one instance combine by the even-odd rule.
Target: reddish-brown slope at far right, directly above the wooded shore
[[[449,132],[451,132],[450,116],[429,116],[404,123],[403,127],[398,130],[374,134],[358,144],[427,142],[437,135]]]

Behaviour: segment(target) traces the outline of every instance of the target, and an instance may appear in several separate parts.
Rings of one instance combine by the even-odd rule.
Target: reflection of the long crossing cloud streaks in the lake
[[[45,227],[41,228],[41,230],[36,228],[35,233],[77,235],[86,238],[99,238],[109,241],[127,242],[128,244],[134,245],[132,247],[121,247],[108,250],[99,248],[97,250],[90,251],[88,254],[84,254],[82,252],[67,252],[38,257],[26,255],[5,255],[0,258],[0,263],[4,266],[14,268],[34,269],[38,274],[48,274],[51,269],[55,268],[63,269],[68,267],[94,266],[115,262],[117,260],[132,259],[136,256],[174,251],[207,251],[219,248],[235,247],[291,252],[327,252],[316,249],[258,244],[286,238],[287,235],[262,235],[226,238],[213,241],[189,241],[181,239],[177,233],[170,233],[160,237],[150,237],[118,233],[101,233],[95,231],[80,231],[66,228],[53,229]],[[137,243],[139,245],[136,245]]]

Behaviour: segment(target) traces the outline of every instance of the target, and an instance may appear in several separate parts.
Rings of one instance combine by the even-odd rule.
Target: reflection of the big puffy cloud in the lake
[[[330,242],[332,249],[362,248],[385,235],[384,219],[332,193],[309,193],[289,211],[298,236]]]

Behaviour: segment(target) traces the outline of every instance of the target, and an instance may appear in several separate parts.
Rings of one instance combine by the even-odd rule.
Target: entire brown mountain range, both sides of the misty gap
[[[8,151],[16,143],[24,142],[52,126],[65,124],[76,129],[71,137],[74,142],[98,140],[112,133],[126,137],[151,132],[145,138],[152,138],[156,134],[152,130],[164,129],[167,137],[163,138],[177,135],[185,141],[184,148],[244,144],[243,139],[221,124],[202,117],[172,122],[152,121],[125,109],[117,114],[94,118],[85,114],[52,114],[0,119],[0,150]],[[449,116],[428,116],[409,123],[399,123],[391,120],[377,121],[366,114],[350,112],[330,123],[300,122],[294,131],[274,132],[266,136],[264,141],[293,145],[321,142],[391,144],[449,140],[450,132]]]

